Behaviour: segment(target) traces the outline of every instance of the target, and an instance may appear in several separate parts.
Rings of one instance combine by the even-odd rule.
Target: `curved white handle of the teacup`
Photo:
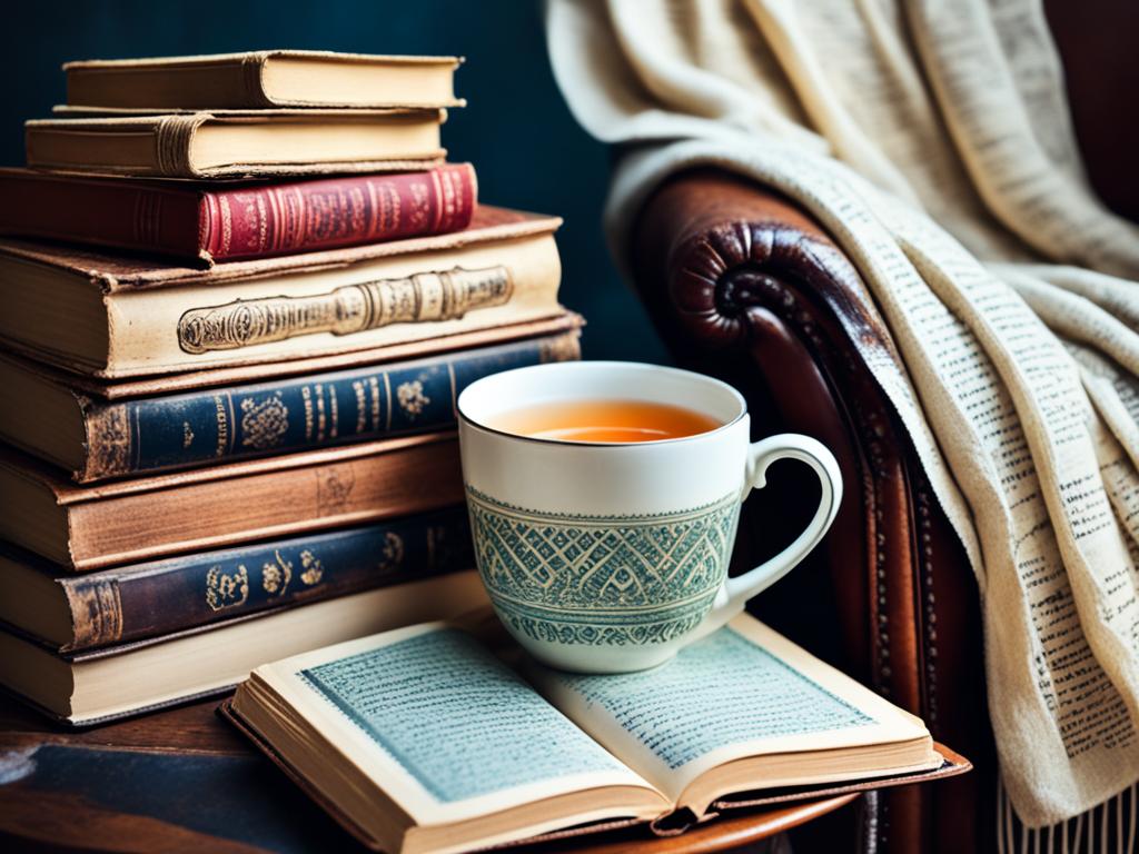
[[[795,541],[770,560],[735,578],[724,581],[716,593],[712,610],[696,630],[691,640],[719,629],[729,619],[744,610],[747,600],[756,593],[767,590],[787,573],[800,560],[818,545],[827,533],[830,523],[838,514],[838,504],[843,498],[843,477],[838,470],[838,461],[822,445],[810,436],[797,433],[784,433],[755,442],[747,449],[747,475],[740,501],[747,498],[752,490],[760,490],[767,484],[768,467],[776,460],[800,460],[810,466],[822,486],[819,508],[814,517]]]

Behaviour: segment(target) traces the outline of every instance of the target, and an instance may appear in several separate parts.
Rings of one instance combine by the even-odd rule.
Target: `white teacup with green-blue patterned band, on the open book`
[[[494,426],[523,405],[598,400],[679,404],[720,426],[622,444]],[[562,670],[622,673],[666,662],[802,560],[842,498],[826,447],[797,434],[749,444],[739,393],[689,371],[633,362],[519,368],[469,385],[458,412],[480,574],[507,630]],[[729,578],[740,502],[785,457],[814,470],[819,508],[784,551]]]

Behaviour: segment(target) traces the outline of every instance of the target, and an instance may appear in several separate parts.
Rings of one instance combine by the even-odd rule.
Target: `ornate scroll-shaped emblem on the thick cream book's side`
[[[347,285],[316,296],[238,299],[182,314],[178,344],[187,353],[206,353],[317,332],[352,335],[392,323],[458,320],[475,309],[505,305],[513,293],[505,266],[457,266]]]

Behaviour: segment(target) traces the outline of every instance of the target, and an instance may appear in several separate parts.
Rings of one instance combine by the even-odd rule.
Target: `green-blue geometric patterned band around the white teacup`
[[[648,646],[700,624],[723,584],[739,495],[647,516],[542,512],[467,487],[475,556],[515,634]]]

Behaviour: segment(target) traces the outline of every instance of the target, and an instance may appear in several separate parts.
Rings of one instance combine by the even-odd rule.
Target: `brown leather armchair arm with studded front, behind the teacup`
[[[830,839],[804,849],[994,847],[977,590],[866,368],[896,355],[888,331],[852,298],[863,289],[857,271],[803,212],[715,171],[662,186],[633,239],[638,289],[678,363],[744,392],[756,436],[809,434],[843,469],[843,504],[823,545],[754,610],[920,715],[976,765],[957,780],[883,793],[868,802],[861,834],[833,827]],[[779,466],[745,506],[737,568],[782,548],[814,507],[811,478]]]

